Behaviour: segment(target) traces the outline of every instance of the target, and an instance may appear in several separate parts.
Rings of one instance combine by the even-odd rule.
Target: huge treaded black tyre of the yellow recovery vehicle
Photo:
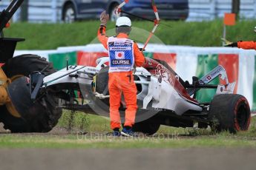
[[[45,58],[38,55],[19,55],[8,60],[2,69],[8,78],[12,78],[15,75],[28,77],[31,72],[42,71],[45,67],[45,75],[55,72],[53,65]],[[34,104],[36,112],[27,115],[26,119],[14,117],[5,106],[1,106],[0,121],[4,123],[4,129],[10,129],[11,132],[49,132],[53,129],[62,115],[62,109],[56,107],[57,98],[48,93]]]

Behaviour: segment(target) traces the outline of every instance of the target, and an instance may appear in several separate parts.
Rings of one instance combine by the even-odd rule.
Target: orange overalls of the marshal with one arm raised
[[[119,39],[125,41],[131,41],[128,39],[128,35],[125,33],[119,33],[115,38],[108,38],[105,35],[105,26],[100,26],[98,31],[99,41],[103,44],[105,49],[111,45],[110,39],[118,41]],[[133,41],[132,41],[133,42]],[[112,42],[113,44],[113,42]],[[145,63],[145,57],[140,51],[139,47],[135,42],[132,43],[134,64],[137,67],[141,67]],[[110,51],[110,50],[109,50]],[[117,57],[123,57],[124,52],[119,52],[116,54]],[[111,60],[111,57],[110,57]],[[118,61],[116,61],[118,62]],[[111,65],[111,62],[110,62]],[[114,68],[115,69],[115,68]],[[135,116],[137,112],[137,87],[134,83],[134,77],[132,74],[132,68],[125,68],[124,70],[114,72],[110,71],[108,73],[108,89],[110,95],[110,118],[111,118],[111,129],[120,129],[121,119],[119,115],[119,106],[121,102],[121,95],[123,93],[125,98],[126,110],[125,110],[125,126],[132,127],[134,125]],[[113,70],[112,70],[113,71]]]

